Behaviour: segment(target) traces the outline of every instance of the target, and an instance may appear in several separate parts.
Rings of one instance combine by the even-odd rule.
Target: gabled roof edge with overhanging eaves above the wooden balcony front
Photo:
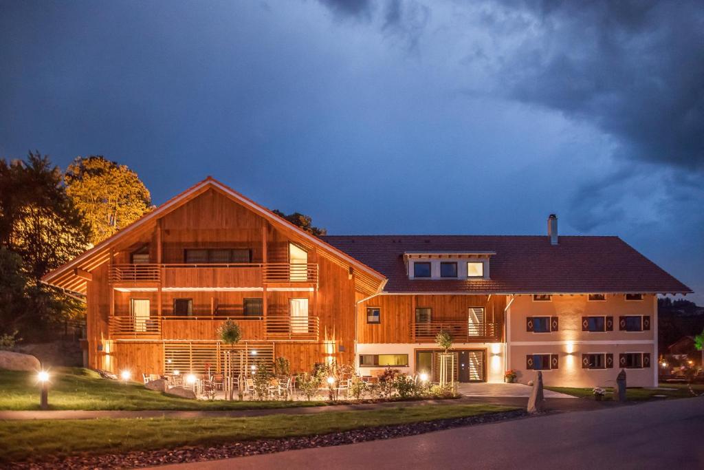
[[[375,278],[379,283],[384,282],[385,278],[381,273],[378,273],[369,266],[365,266],[365,264],[361,263],[357,259],[354,259],[348,254],[341,252],[336,247],[327,244],[319,237],[315,237],[313,235],[310,235],[310,233],[304,232],[303,230],[296,227],[296,225],[290,223],[286,219],[277,216],[264,206],[253,202],[248,197],[245,197],[239,192],[233,190],[231,187],[220,183],[220,181],[215,180],[215,178],[212,178],[210,176],[208,176],[208,178],[206,178],[205,180],[202,180],[199,183],[196,183],[195,185],[189,187],[184,192],[177,194],[177,196],[172,197],[167,202],[161,204],[161,206],[158,206],[156,209],[151,211],[149,214],[142,216],[137,221],[134,221],[130,225],[127,225],[127,227],[122,228],[122,230],[118,231],[118,233],[115,233],[115,235],[112,235],[108,239],[103,240],[103,242],[99,243],[92,249],[89,249],[87,252],[84,252],[80,256],[77,256],[72,261],[63,264],[63,266],[59,266],[54,271],[46,273],[44,277],[42,277],[42,281],[47,284],[55,285],[56,287],[61,287],[65,290],[71,290],[73,292],[85,294],[87,290],[86,280],[84,280],[84,278],[82,278],[78,275],[78,273],[75,272],[76,269],[88,272],[94,270],[97,266],[100,266],[101,264],[108,261],[110,257],[110,247],[113,246],[115,242],[118,242],[120,239],[124,238],[130,233],[137,232],[137,230],[140,230],[145,226],[148,227],[148,224],[150,222],[156,221],[157,218],[170,213],[171,211],[182,206],[183,204],[186,204],[192,197],[196,197],[199,194],[203,194],[203,192],[206,192],[210,189],[225,194],[227,197],[230,197],[230,199],[239,202],[239,204],[242,204],[246,208],[251,209],[251,211],[255,212],[256,214],[267,218],[270,223],[275,226],[295,230],[301,238],[310,242],[312,245],[320,247],[321,249],[325,250],[325,252],[329,252],[334,256],[337,256],[337,258],[344,260],[350,266],[353,266],[359,271],[365,273],[367,276]]]

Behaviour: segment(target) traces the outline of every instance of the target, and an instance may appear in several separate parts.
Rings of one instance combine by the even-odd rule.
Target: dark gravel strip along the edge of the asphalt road
[[[420,423],[398,424],[377,428],[364,428],[355,431],[343,431],[323,435],[310,435],[301,438],[282,438],[268,440],[253,440],[206,446],[179,447],[172,450],[133,451],[127,454],[75,455],[65,458],[47,459],[42,462],[16,462],[10,464],[11,469],[132,469],[144,466],[165,464],[183,464],[187,462],[205,462],[207,460],[245,457],[247,455],[270,454],[285,450],[307,449],[310,447],[327,447],[330,445],[363,443],[367,440],[400,438],[440,431],[442,429],[470,426],[473,424],[493,423],[505,419],[516,419],[526,416],[520,409],[513,412],[500,412],[468,416],[466,418],[439,419]]]

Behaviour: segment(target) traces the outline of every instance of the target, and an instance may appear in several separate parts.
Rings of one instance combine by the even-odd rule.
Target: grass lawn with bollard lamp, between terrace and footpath
[[[258,409],[321,406],[325,402],[226,402],[185,400],[146,390],[141,383],[109,381],[89,369],[54,368],[51,409]],[[0,370],[0,409],[39,409],[37,374]]]

